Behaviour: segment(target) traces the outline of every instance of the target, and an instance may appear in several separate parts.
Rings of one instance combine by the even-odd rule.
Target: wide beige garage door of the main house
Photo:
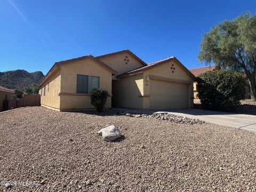
[[[188,108],[188,85],[150,80],[150,109]]]

